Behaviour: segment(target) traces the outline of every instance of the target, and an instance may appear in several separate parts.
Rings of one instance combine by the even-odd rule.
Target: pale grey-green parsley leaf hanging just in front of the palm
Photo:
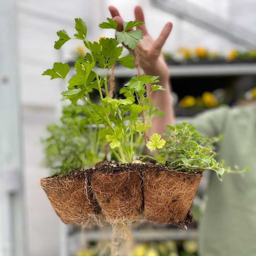
[[[128,47],[134,50],[137,46],[137,43],[140,42],[140,39],[143,38],[143,33],[140,29],[132,30],[129,32],[118,32],[116,31],[116,39],[118,43],[124,43]]]

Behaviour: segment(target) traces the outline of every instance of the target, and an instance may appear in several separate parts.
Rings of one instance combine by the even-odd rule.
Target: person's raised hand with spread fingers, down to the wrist
[[[123,31],[123,19],[121,18],[118,10],[114,6],[109,6],[109,11],[114,20],[117,20],[117,30]],[[135,19],[144,21],[143,11],[140,6],[136,6],[134,9]],[[140,66],[144,70],[146,75],[159,76],[159,82],[161,84],[168,84],[169,81],[169,70],[164,61],[164,57],[161,53],[161,49],[172,30],[172,23],[168,22],[158,38],[154,40],[146,29],[145,24],[137,27],[141,29],[144,37],[137,44],[138,55],[140,58]],[[128,48],[129,49],[129,48]],[[134,51],[129,49],[131,54],[134,56]]]

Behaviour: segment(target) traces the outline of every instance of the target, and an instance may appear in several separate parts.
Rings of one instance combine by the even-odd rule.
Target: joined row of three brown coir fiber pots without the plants
[[[107,165],[41,180],[64,223],[96,220],[100,209],[110,223],[148,220],[185,224],[200,174],[174,172],[154,164]],[[96,200],[95,200],[96,199]]]

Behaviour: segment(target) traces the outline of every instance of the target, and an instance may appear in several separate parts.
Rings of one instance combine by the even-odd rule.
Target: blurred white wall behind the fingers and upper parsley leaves
[[[182,0],[179,0],[182,1]],[[97,25],[110,17],[108,5],[114,5],[124,20],[134,19],[133,8],[140,4],[145,12],[145,19],[150,34],[156,38],[164,24],[173,22],[171,36],[164,45],[165,51],[174,51],[180,46],[205,46],[212,50],[227,52],[235,47],[226,39],[216,36],[201,28],[180,20],[166,12],[152,7],[149,0],[17,0],[19,24],[19,67],[21,101],[24,105],[55,106],[60,99],[58,80],[50,81],[41,76],[51,68],[54,61],[70,60],[72,49],[81,44],[73,40],[57,51],[53,48],[57,40],[56,31],[66,29],[74,34],[74,18],[83,18],[88,25],[91,39],[99,36],[112,36],[110,31],[102,31]],[[256,33],[256,4],[254,0],[190,0],[234,24],[251,29]]]

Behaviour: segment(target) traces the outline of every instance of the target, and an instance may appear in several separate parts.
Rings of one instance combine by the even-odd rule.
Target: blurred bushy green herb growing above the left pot
[[[60,124],[47,126],[44,166],[52,174],[86,169],[104,158],[106,127],[92,126],[86,106],[63,107]]]

